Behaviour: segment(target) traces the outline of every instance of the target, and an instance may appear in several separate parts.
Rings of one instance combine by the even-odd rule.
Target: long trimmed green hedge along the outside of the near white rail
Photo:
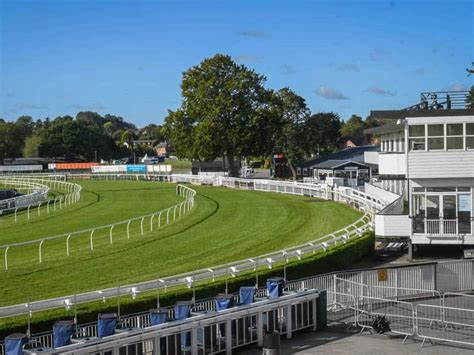
[[[339,244],[331,247],[328,251],[322,250],[316,252],[314,255],[307,256],[302,260],[291,262],[287,264],[286,276],[288,280],[295,280],[299,278],[309,277],[318,274],[324,274],[337,270],[344,270],[349,268],[355,262],[364,257],[370,256],[374,252],[375,237],[373,232],[365,233],[359,238],[353,238],[346,244]],[[272,269],[259,270],[259,286],[264,285],[269,277],[283,276],[282,265],[275,266]],[[255,285],[255,273],[242,274],[236,278],[228,279],[229,292],[237,292],[241,286]],[[206,299],[215,296],[217,293],[225,291],[225,281],[217,280],[213,283],[206,283],[196,285],[196,299]],[[160,293],[161,306],[173,305],[179,300],[190,300],[192,297],[192,290],[179,289],[173,292]],[[156,294],[147,294],[139,297],[137,300],[132,300],[131,297],[122,300],[121,297],[121,314],[131,314],[156,308]],[[107,300],[105,303],[96,302],[85,306],[78,306],[78,323],[88,323],[97,320],[97,314],[102,312],[116,312],[116,300]],[[52,324],[57,319],[71,319],[73,317],[72,311],[65,311],[64,309],[57,309],[41,314],[34,314],[31,320],[32,333],[40,333],[52,329]],[[25,332],[27,328],[26,316],[10,319],[8,322],[3,322],[0,325],[0,339],[5,336],[20,332]]]

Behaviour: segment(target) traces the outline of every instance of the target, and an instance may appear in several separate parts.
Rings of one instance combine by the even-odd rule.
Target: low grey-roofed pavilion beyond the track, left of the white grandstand
[[[364,163],[364,153],[379,150],[380,147],[373,145],[346,148],[299,164],[297,175],[317,181],[325,181],[326,177],[341,177],[347,185],[359,185],[371,174],[370,166]]]

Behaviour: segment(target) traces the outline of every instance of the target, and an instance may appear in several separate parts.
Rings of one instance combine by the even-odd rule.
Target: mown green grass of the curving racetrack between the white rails
[[[81,182],[81,202],[35,223],[0,229],[2,244],[78,228],[119,221],[172,205],[179,199],[174,185],[150,182]],[[43,263],[37,247],[10,249],[11,269],[0,271],[0,305],[85,292],[200,269],[293,246],[348,225],[360,212],[345,205],[256,191],[192,186],[198,191],[195,208],[174,224],[139,233],[132,228],[46,242]],[[40,217],[41,218],[41,217]],[[4,237],[5,236],[5,237]],[[3,260],[3,252],[0,252]]]

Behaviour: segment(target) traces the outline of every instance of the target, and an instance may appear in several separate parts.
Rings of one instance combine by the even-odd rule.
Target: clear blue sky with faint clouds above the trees
[[[474,84],[473,1],[0,0],[0,117],[92,110],[138,126],[216,53],[343,119]]]

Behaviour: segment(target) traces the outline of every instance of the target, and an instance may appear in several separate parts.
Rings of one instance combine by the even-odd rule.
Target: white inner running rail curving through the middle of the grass
[[[81,231],[75,231],[71,233],[66,233],[66,234],[61,234],[61,235],[56,235],[52,237],[44,237],[44,238],[39,238],[31,241],[26,241],[26,242],[19,242],[19,243],[11,243],[11,244],[6,244],[6,245],[0,245],[0,249],[4,250],[4,265],[5,265],[5,270],[8,270],[9,268],[9,263],[8,263],[8,251],[10,248],[18,248],[18,247],[24,247],[28,245],[38,245],[38,262],[42,263],[43,261],[43,244],[44,242],[50,242],[50,241],[55,241],[55,240],[62,240],[64,239],[66,241],[65,243],[65,251],[66,251],[66,256],[69,256],[71,251],[70,251],[70,239],[74,236],[82,236],[87,237],[90,241],[90,250],[94,250],[94,233],[99,230],[107,230],[108,235],[109,235],[109,241],[110,244],[113,244],[113,236],[114,236],[114,228],[119,225],[124,225],[126,226],[126,231],[127,231],[127,239],[130,239],[130,225],[134,221],[139,221],[140,222],[140,234],[143,235],[145,232],[145,220],[149,222],[148,226],[150,228],[150,231],[153,231],[154,227],[154,219],[156,217],[156,226],[157,228],[161,228],[162,223],[164,224],[166,221],[166,225],[171,223],[171,220],[174,222],[176,221],[177,218],[180,218],[182,215],[184,215],[186,212],[188,212],[190,209],[194,207],[194,197],[196,195],[196,191],[193,189],[190,189],[187,186],[183,185],[176,185],[176,194],[178,196],[184,197],[184,201],[177,203],[167,209],[160,210],[151,214],[147,214],[144,216],[140,217],[135,217],[131,219],[127,219],[125,221],[120,221],[116,223],[111,223],[103,226],[98,226],[94,228],[89,228],[89,229],[84,229]],[[61,200],[60,200],[61,201]],[[67,199],[66,199],[67,201]],[[163,215],[163,221],[162,221],[162,215]],[[1,318],[1,317],[0,317]]]

